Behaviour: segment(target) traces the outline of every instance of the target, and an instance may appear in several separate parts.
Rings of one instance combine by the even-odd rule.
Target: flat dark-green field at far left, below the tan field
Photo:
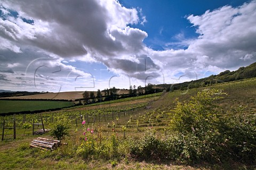
[[[11,101],[0,100],[0,114],[19,111],[47,110],[72,106],[68,101]]]

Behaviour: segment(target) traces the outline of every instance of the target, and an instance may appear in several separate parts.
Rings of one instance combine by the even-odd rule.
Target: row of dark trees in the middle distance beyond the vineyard
[[[130,86],[129,93],[128,94],[117,94],[116,87],[112,88],[105,88],[104,90],[100,91],[100,89],[97,91],[97,94],[95,95],[94,92],[88,92],[85,91],[83,93],[83,100],[85,104],[95,103],[95,102],[101,102],[101,101],[110,101],[110,100],[116,100],[116,99],[123,99],[123,98],[130,98],[134,96],[139,95],[146,95],[146,94],[153,94],[158,92],[163,92],[163,88],[155,87],[155,85],[148,83],[146,87],[138,86]],[[102,95],[102,93],[104,95]],[[79,102],[81,103],[81,101]]]

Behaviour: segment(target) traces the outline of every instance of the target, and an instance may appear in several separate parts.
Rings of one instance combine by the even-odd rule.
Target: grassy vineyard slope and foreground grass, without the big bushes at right
[[[51,128],[52,123],[57,123],[61,115],[66,116],[71,121],[70,136],[66,136],[63,140],[67,144],[61,145],[54,151],[29,148],[29,142],[38,137],[31,135],[31,128],[27,129],[25,135],[23,135],[23,122],[31,123],[33,119],[39,122],[38,114],[17,115],[17,139],[13,140],[13,132],[7,130],[4,133],[4,141],[0,142],[0,162],[2,163],[0,167],[2,169],[255,169],[255,161],[248,163],[244,162],[243,159],[234,158],[226,161],[216,159],[215,161],[212,160],[211,163],[211,161],[200,158],[201,160],[190,162],[189,159],[187,160],[184,157],[184,159],[163,159],[154,150],[157,142],[166,141],[169,139],[168,137],[174,135],[170,124],[173,117],[172,110],[177,107],[176,98],[179,98],[181,102],[188,101],[191,96],[195,96],[198,92],[205,91],[205,89],[221,88],[227,94],[223,95],[223,99],[214,102],[218,105],[218,108],[214,111],[218,112],[219,120],[231,119],[234,115],[241,116],[241,114],[243,116],[255,116],[255,84],[256,79],[247,79],[193,88],[187,91],[177,90],[163,94],[159,93],[155,96],[148,95],[144,98],[139,96],[131,99],[121,99],[116,102],[102,102],[101,105],[93,104],[91,106],[47,112],[42,114],[46,128]],[[81,115],[86,121],[84,126],[82,125]],[[12,125],[13,116],[1,117],[0,135],[2,135],[3,120]],[[59,120],[63,121],[64,119]],[[253,123],[252,119],[250,121],[250,123]],[[239,125],[236,128],[238,127]],[[86,131],[87,128],[93,128],[94,132]],[[252,133],[249,131],[249,126],[246,125],[244,129],[246,129],[248,139],[242,141],[242,144],[243,142],[250,142],[250,135],[248,134]],[[145,134],[151,134],[153,131],[156,138],[154,136],[145,138]],[[87,141],[84,140],[84,132]],[[232,129],[231,132],[236,134],[238,130],[233,131]],[[215,133],[211,132],[211,134]],[[242,133],[241,135],[244,136],[245,134]],[[42,136],[51,138],[49,134]],[[239,136],[238,138],[242,139],[243,137]],[[147,141],[149,139],[150,141]],[[151,148],[151,152],[148,153],[149,155],[142,155],[148,158],[133,155],[135,151],[132,151],[131,148],[136,147],[136,144],[142,142],[141,140],[149,143],[156,142]],[[193,147],[195,144],[200,143],[193,143],[189,146]],[[140,148],[143,148],[142,146],[143,143],[141,143]],[[225,146],[225,144],[221,143],[220,146]],[[173,149],[175,150],[175,148]],[[247,148],[247,151],[248,149],[250,148]],[[245,150],[244,153],[250,154],[248,156],[252,157],[254,151],[249,153],[247,151]]]

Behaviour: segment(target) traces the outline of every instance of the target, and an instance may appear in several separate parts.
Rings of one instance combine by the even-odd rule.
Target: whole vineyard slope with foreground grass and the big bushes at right
[[[16,140],[13,140],[13,129],[5,129],[2,133],[3,122],[5,127],[13,127],[14,116],[1,116],[0,134],[4,137],[0,143],[1,166],[5,169],[253,169],[255,140],[250,137],[255,134],[256,125],[255,84],[256,79],[246,79],[54,112],[15,115]],[[196,112],[198,108],[192,108],[198,104],[193,105],[193,100],[203,101],[202,96],[198,97],[198,92],[202,96],[207,94],[205,98],[209,100],[210,92],[213,96],[220,94],[220,98],[214,99],[210,107],[202,104],[206,111],[197,111],[202,117],[190,115],[190,119],[183,119],[183,108]],[[193,100],[191,96],[195,96]],[[186,104],[188,101],[191,102]],[[209,114],[214,113],[213,116],[204,115],[207,109],[210,110]],[[25,128],[25,125],[41,123],[41,115],[46,129],[65,121],[70,125],[69,135],[62,141],[65,144],[51,152],[29,148],[29,142],[38,135],[33,135],[31,127]],[[191,122],[193,116],[196,124]],[[248,119],[249,122],[243,124]],[[178,124],[185,120],[189,122]],[[236,121],[240,121],[239,124],[235,124]],[[223,126],[217,125],[220,122]],[[183,126],[190,123],[193,128]],[[233,126],[237,128],[236,131],[233,131]],[[214,130],[215,127],[218,131]],[[35,129],[39,128],[42,127],[35,125]],[[183,136],[176,135],[179,133]],[[50,137],[50,134],[43,134],[42,137]],[[236,137],[223,138],[230,135]],[[214,148],[216,146],[220,149]],[[179,147],[183,149],[179,150]],[[225,155],[223,150],[228,150],[230,155]],[[244,155],[240,155],[242,151]],[[246,157],[248,155],[254,160]],[[223,157],[227,160],[223,160]]]

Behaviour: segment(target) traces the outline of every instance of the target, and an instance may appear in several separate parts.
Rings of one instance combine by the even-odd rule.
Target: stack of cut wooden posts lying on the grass
[[[52,140],[52,139],[46,139],[43,137],[37,137],[37,139],[34,139],[30,143],[30,147],[33,148],[40,148],[43,150],[54,150],[60,145],[60,141],[58,140]]]

